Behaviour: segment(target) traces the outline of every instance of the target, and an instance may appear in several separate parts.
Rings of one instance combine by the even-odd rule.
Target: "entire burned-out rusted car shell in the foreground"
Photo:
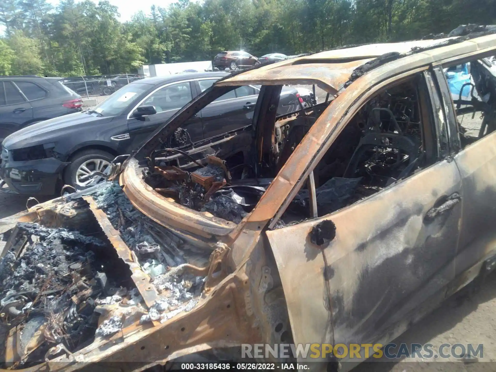
[[[0,220],[2,265],[17,278],[2,282],[9,366],[131,371],[236,360],[242,344],[386,344],[489,272],[496,92],[479,61],[496,36],[475,36],[322,52],[220,80],[113,180]],[[460,61],[487,102],[452,101],[443,68]],[[333,99],[278,116],[294,83]],[[262,85],[251,126],[168,147],[188,118],[248,84]],[[457,120],[472,112],[485,115],[476,132]],[[57,267],[33,281],[29,249],[54,252]],[[325,361],[345,371],[348,360]]]

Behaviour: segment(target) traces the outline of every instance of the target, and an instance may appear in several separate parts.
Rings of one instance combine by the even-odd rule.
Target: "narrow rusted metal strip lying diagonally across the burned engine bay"
[[[107,215],[103,210],[98,208],[91,196],[83,196],[90,206],[98,224],[109,239],[112,246],[116,249],[119,258],[121,258],[131,270],[131,279],[136,285],[140,295],[143,297],[146,306],[150,308],[158,297],[157,289],[151,283],[150,276],[146,274],[139,264],[136,255],[127,247],[121,238],[121,234],[110,223]]]

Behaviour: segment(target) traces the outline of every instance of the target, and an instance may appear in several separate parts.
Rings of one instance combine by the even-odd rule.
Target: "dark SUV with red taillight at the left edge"
[[[60,77],[0,76],[0,143],[27,125],[81,111],[83,101]]]

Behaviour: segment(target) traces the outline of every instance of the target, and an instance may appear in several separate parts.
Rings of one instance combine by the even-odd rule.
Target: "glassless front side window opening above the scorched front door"
[[[318,217],[354,204],[433,164],[434,118],[423,75],[370,99],[343,128],[313,169]],[[315,218],[312,182],[293,198],[274,228]],[[310,187],[309,187],[310,186]],[[310,194],[309,194],[310,190]]]

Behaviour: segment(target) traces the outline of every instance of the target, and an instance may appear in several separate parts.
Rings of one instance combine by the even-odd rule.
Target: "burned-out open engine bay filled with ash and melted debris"
[[[84,194],[105,211],[138,265],[121,259],[81,194],[66,202],[86,204],[82,232],[18,223],[4,234],[0,261],[3,367],[71,354],[129,324],[163,322],[197,303],[211,251],[187,245],[135,210],[118,183]],[[153,299],[141,296],[137,272],[154,287]]]

